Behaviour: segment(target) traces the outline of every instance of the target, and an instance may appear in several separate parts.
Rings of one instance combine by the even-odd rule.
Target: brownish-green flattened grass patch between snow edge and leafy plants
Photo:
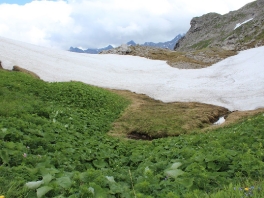
[[[216,122],[219,117],[230,112],[219,106],[201,103],[163,103],[146,95],[128,91],[118,91],[132,105],[114,123],[110,135],[130,136],[131,138],[155,139],[167,136],[178,136],[191,133],[193,130],[205,128]]]

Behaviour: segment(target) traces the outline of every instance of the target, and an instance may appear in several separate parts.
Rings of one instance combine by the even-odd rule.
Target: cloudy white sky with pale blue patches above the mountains
[[[0,0],[0,36],[68,50],[165,42],[208,12],[226,14],[252,0]]]

